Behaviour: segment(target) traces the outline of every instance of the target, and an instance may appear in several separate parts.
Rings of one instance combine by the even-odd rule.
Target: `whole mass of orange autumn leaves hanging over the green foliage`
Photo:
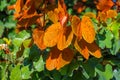
[[[91,17],[96,18],[96,15],[88,13],[83,15],[82,19],[69,15],[64,0],[58,0],[57,7],[47,10],[46,6],[50,1],[55,3],[55,0],[17,0],[15,5],[9,7],[9,9],[15,8],[14,17],[18,20],[18,29],[36,24],[32,33],[34,43],[41,50],[51,48],[46,59],[46,68],[59,70],[69,64],[74,57],[74,51],[69,47],[70,45],[74,45],[85,59],[89,59],[90,55],[100,58],[102,55],[95,43],[96,32],[91,21]],[[100,10],[97,18],[102,19],[104,14],[107,18],[116,16],[115,11],[110,10],[113,4],[111,0],[99,0],[96,5]],[[45,15],[52,22],[47,28]],[[68,21],[71,23],[70,26],[67,26]]]

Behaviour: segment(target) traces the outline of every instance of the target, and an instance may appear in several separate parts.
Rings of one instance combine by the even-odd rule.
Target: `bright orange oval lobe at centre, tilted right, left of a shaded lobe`
[[[61,28],[60,23],[55,23],[46,29],[43,40],[47,47],[53,47],[57,44]]]

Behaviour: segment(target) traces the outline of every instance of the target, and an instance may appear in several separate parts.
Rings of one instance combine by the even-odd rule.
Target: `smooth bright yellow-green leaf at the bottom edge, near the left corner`
[[[20,65],[16,65],[10,75],[10,80],[22,80]]]

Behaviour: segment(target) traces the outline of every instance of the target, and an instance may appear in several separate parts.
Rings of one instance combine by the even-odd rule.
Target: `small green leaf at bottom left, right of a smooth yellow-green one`
[[[21,76],[22,79],[29,79],[30,77],[31,71],[29,70],[29,66],[24,66],[21,69]]]

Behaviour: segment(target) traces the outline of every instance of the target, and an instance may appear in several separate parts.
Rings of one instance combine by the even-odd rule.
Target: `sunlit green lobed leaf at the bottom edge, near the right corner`
[[[112,66],[110,64],[107,64],[105,66],[105,71],[102,71],[98,69],[97,67],[95,68],[95,71],[99,75],[99,80],[110,80],[113,78]]]

